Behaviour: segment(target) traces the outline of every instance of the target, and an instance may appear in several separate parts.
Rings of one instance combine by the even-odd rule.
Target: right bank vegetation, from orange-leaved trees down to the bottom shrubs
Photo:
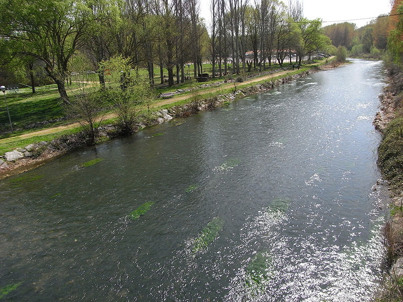
[[[388,264],[391,266],[385,290],[377,301],[403,300],[403,1],[392,1],[387,51],[384,61],[388,85],[380,96],[381,110],[374,125],[381,131],[378,165],[389,182],[391,217],[385,225]]]

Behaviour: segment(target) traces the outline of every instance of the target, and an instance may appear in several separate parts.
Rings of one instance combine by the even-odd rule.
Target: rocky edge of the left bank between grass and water
[[[151,115],[140,117],[136,131],[139,131],[144,127],[170,121],[174,118],[183,118],[200,111],[211,110],[218,106],[228,104],[237,98],[243,98],[247,95],[272,90],[279,85],[289,83],[295,79],[304,77],[309,73],[331,69],[335,66],[334,63],[324,64],[320,67],[311,68],[293,75],[285,75],[281,79],[275,81],[267,81],[262,84],[239,89],[229,94],[215,94],[208,98],[195,100],[181,106],[172,106],[168,109],[155,111]],[[236,89],[236,86],[234,86],[234,88]],[[191,97],[189,97],[189,99],[190,98]],[[105,125],[98,129],[97,142],[102,142],[117,136],[114,125]],[[5,155],[0,156],[0,179],[33,169],[54,157],[87,145],[89,145],[87,136],[84,133],[78,133],[64,135],[48,142],[42,141],[37,144],[30,144],[24,148],[18,148],[12,152],[7,152]]]

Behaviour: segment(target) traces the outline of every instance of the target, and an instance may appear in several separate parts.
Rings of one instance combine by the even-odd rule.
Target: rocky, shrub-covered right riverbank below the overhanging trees
[[[379,301],[403,298],[403,71],[388,68],[388,85],[380,98],[380,111],[373,121],[382,133],[378,147],[378,165],[389,183],[392,197],[391,216],[385,225],[385,240],[390,270]]]

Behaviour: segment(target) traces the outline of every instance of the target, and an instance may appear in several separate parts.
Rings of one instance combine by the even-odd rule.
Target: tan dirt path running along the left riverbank
[[[251,83],[260,82],[260,81],[263,81],[263,80],[272,79],[274,77],[278,77],[279,75],[287,74],[287,73],[289,73],[291,71],[292,70],[283,70],[283,71],[275,72],[273,74],[265,75],[264,77],[254,78],[254,79],[242,82],[242,84],[240,84],[240,86],[243,86],[245,84],[251,84]],[[224,85],[221,85],[220,87],[211,88],[209,90],[198,91],[197,94],[204,94],[204,93],[208,93],[208,92],[217,92],[219,89],[227,89],[227,88],[231,88],[233,86],[234,85],[232,83],[224,84]],[[175,103],[175,102],[178,102],[178,101],[182,101],[182,100],[188,99],[190,97],[191,97],[191,95],[189,95],[189,94],[186,94],[186,95],[183,95],[183,96],[173,97],[173,98],[170,98],[170,99],[155,102],[155,103],[153,103],[151,105],[151,107],[153,107],[153,108],[160,107],[160,106],[163,106],[163,105],[167,105],[167,104]],[[102,119],[109,119],[109,118],[113,118],[115,116],[116,115],[114,113],[110,113],[110,114],[104,115],[102,117]],[[76,127],[79,127],[79,126],[80,126],[80,123],[75,122],[75,123],[69,123],[69,124],[64,124],[64,125],[60,125],[60,126],[45,128],[45,129],[41,129],[41,130],[34,131],[34,132],[24,133],[24,134],[21,134],[21,135],[18,135],[18,136],[3,138],[3,139],[0,139],[0,143],[9,142],[9,141],[18,140],[18,139],[23,139],[23,138],[29,138],[29,137],[33,137],[33,136],[40,136],[40,135],[45,135],[45,134],[57,133],[57,132],[61,132],[63,130],[72,129],[72,128],[76,128]]]

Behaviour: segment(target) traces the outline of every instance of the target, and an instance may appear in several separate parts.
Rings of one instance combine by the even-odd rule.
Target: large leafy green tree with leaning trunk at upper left
[[[84,44],[93,15],[85,0],[0,0],[0,37],[10,41],[13,53],[41,60],[57,84],[64,103],[68,63]]]

